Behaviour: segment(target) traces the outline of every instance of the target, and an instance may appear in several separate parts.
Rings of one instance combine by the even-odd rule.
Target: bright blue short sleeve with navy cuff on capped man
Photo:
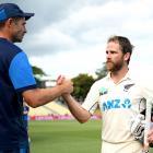
[[[9,76],[16,91],[36,87],[36,81],[33,75],[32,67],[23,51],[12,59],[9,68]]]

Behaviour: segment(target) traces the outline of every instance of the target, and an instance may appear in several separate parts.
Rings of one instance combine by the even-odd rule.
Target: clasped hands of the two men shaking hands
[[[59,75],[57,79],[57,86],[61,90],[61,95],[71,94],[73,92],[73,83],[71,80],[66,79],[63,75]]]

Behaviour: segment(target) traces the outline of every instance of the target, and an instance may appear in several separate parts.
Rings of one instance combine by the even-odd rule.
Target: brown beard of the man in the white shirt
[[[106,61],[106,68],[110,72],[118,72],[123,66],[123,61],[113,62],[113,61]]]

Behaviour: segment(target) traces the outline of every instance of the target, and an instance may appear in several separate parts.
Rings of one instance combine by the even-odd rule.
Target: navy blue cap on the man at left
[[[34,13],[23,12],[14,3],[1,3],[0,4],[0,22],[5,21],[10,17],[25,17],[25,20],[28,20],[31,16],[34,16]]]

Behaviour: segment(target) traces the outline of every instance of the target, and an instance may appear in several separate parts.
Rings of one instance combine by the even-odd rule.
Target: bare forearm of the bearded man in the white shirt
[[[70,94],[62,95],[71,114],[79,122],[85,122],[91,118],[91,114],[85,110]]]

